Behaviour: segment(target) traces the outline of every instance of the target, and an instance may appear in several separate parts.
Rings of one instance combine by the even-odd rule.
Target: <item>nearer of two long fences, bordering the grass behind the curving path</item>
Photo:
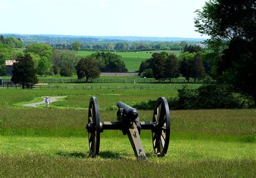
[[[198,88],[199,86],[186,86],[187,88]],[[0,85],[0,88],[22,88],[22,85]],[[180,86],[131,86],[131,85],[33,85],[28,88],[34,89],[99,89],[99,90],[178,90]]]

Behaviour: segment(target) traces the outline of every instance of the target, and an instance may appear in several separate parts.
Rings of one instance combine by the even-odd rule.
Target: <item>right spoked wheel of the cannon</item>
[[[170,111],[167,100],[159,97],[154,108],[153,123],[156,127],[152,129],[152,141],[154,153],[157,156],[165,156],[170,139]]]

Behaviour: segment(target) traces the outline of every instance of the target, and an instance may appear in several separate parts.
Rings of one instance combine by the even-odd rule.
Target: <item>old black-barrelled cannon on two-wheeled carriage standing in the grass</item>
[[[100,133],[104,130],[121,130],[127,135],[132,145],[134,154],[138,160],[147,160],[145,151],[140,140],[140,131],[151,129],[154,153],[161,157],[165,156],[170,139],[170,111],[167,100],[159,97],[154,107],[152,121],[139,121],[139,114],[123,102],[117,102],[117,121],[100,122],[98,100],[91,97],[89,102],[88,123],[86,129],[89,138],[90,156],[99,154]]]

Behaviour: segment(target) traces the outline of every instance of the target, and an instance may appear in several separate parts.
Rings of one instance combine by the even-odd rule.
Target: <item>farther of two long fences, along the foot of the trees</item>
[[[10,83],[10,80],[4,80],[4,83]],[[208,83],[211,83],[209,81]],[[38,83],[86,83],[85,79],[38,79]],[[203,84],[203,80],[161,80],[160,82],[156,79],[90,79],[88,83],[173,83],[173,84]]]

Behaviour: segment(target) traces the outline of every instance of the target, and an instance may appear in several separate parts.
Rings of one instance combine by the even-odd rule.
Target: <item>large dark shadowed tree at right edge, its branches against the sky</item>
[[[256,5],[254,0],[210,0],[197,10],[197,31],[211,37],[208,44],[220,53],[214,78],[250,95],[256,105]]]

